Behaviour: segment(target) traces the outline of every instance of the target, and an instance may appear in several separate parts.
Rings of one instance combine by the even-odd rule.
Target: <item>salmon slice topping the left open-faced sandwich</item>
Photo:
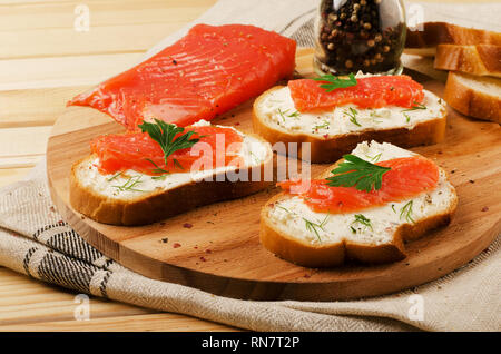
[[[237,155],[243,140],[234,129],[215,126],[187,127],[181,134],[187,131],[195,131],[191,139],[199,138],[199,141],[191,148],[173,153],[167,158],[167,165],[160,145],[153,140],[147,132],[100,136],[90,142],[90,147],[92,153],[99,157],[99,171],[105,175],[127,169],[147,175],[159,175],[161,170],[187,173],[191,165],[200,158],[209,158],[209,160],[200,164],[202,168],[197,170],[242,163]],[[199,153],[191,154],[194,148],[197,148]]]

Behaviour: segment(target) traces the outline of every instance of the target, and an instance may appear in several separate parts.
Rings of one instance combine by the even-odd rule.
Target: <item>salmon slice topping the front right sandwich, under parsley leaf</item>
[[[345,214],[354,213],[391,201],[413,198],[423,191],[433,189],[439,181],[439,167],[424,157],[403,157],[377,163],[390,167],[383,175],[381,189],[371,191],[355,187],[331,187],[326,179],[313,179],[299,195],[314,212]],[[293,186],[301,189],[301,180],[278,183],[284,190]]]

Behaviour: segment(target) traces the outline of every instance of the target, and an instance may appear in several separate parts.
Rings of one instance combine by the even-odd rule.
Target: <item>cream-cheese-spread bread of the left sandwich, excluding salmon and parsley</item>
[[[90,155],[71,168],[70,203],[91,219],[112,225],[144,225],[185,213],[198,206],[247,196],[266,188],[265,170],[273,168],[269,144],[244,135],[239,156],[245,168],[217,167],[202,171],[175,173],[155,178],[127,170],[102,175],[98,157]],[[134,179],[130,179],[134,178]],[[130,180],[134,188],[119,188]]]

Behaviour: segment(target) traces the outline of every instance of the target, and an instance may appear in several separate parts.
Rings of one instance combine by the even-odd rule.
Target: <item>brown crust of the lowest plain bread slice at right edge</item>
[[[450,71],[443,94],[445,101],[463,115],[501,124],[501,98],[464,85],[461,76],[475,80],[474,77]]]

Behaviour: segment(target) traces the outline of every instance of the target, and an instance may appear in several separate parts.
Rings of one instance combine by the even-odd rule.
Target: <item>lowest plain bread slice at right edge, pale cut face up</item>
[[[450,71],[444,99],[463,115],[501,124],[501,79]]]

